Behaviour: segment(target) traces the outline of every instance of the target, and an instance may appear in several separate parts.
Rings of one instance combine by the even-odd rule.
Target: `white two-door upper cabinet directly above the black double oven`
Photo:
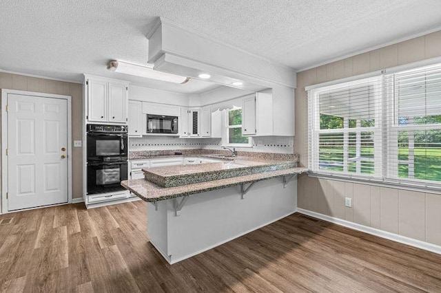
[[[85,76],[87,122],[127,123],[128,86],[125,81]]]

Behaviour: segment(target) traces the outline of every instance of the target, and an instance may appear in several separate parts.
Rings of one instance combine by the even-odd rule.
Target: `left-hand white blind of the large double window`
[[[309,166],[317,173],[382,175],[381,77],[309,91]]]

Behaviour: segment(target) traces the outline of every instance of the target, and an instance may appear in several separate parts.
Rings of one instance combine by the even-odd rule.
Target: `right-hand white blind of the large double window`
[[[387,176],[441,182],[441,65],[384,75]]]

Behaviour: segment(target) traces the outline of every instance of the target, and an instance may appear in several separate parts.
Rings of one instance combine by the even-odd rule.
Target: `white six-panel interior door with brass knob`
[[[68,202],[68,101],[8,94],[8,210]]]

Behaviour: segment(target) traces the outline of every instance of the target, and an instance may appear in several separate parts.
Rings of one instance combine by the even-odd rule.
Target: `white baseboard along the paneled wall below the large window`
[[[380,229],[376,229],[376,228],[371,228],[371,227],[368,227],[368,226],[363,226],[363,225],[360,225],[360,224],[353,223],[351,221],[345,221],[343,219],[338,219],[336,217],[331,217],[331,216],[328,216],[328,215],[323,215],[323,214],[320,214],[320,213],[312,212],[311,210],[304,210],[303,208],[297,208],[297,212],[300,213],[300,214],[303,214],[303,215],[308,215],[308,216],[311,216],[311,217],[315,217],[317,219],[322,219],[323,221],[329,221],[330,223],[333,223],[333,224],[337,224],[337,225],[340,225],[340,226],[345,226],[345,227],[351,228],[353,230],[358,230],[358,231],[361,231],[361,232],[365,232],[365,233],[370,234],[370,235],[375,235],[375,236],[382,237],[382,238],[385,238],[385,239],[389,239],[389,240],[392,240],[392,241],[396,241],[396,242],[399,242],[399,243],[407,244],[409,246],[413,246],[413,247],[416,247],[416,248],[421,248],[421,249],[424,249],[424,250],[428,250],[430,252],[435,252],[435,253],[441,254],[441,246],[438,246],[438,245],[435,245],[435,244],[432,244],[432,243],[429,243],[429,242],[424,242],[424,241],[420,241],[420,240],[417,240],[417,239],[413,239],[413,238],[405,237],[405,236],[402,236],[402,235],[394,234],[394,233],[391,233],[391,232],[387,232],[387,231],[384,231],[384,230],[380,230]]]

